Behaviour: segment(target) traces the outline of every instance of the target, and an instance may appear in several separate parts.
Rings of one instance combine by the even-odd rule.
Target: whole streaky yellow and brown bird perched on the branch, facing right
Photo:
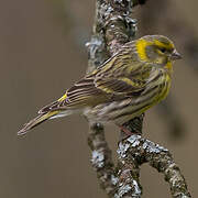
[[[25,134],[40,123],[74,113],[89,123],[122,125],[157,105],[168,95],[173,63],[180,59],[164,35],[145,35],[122,45],[101,66],[86,74],[18,132]]]

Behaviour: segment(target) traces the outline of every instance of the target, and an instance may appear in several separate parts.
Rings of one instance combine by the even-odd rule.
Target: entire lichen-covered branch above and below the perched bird
[[[99,67],[121,45],[134,38],[136,21],[131,18],[132,8],[144,2],[145,0],[96,1],[94,33],[87,43],[89,55],[87,73]],[[124,128],[134,135],[125,139],[121,132],[117,166],[113,165],[103,127],[100,123],[90,125],[88,144],[92,151],[91,163],[100,186],[109,197],[140,198],[142,195],[140,166],[150,163],[158,172],[164,173],[174,198],[190,197],[185,179],[169,152],[141,138],[143,118],[142,114],[124,124]]]

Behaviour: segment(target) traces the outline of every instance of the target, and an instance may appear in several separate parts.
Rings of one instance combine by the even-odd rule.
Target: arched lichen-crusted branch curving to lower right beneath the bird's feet
[[[128,197],[133,197],[134,193],[135,195],[139,194],[141,188],[139,183],[136,183],[139,182],[139,175],[135,172],[135,167],[144,163],[148,163],[152,167],[164,174],[165,180],[169,183],[173,198],[190,197],[185,178],[167,148],[134,134],[120,142],[118,153],[120,157],[119,163],[121,164],[119,165],[120,168],[123,169],[122,166],[124,166],[124,169],[127,167],[128,172],[132,170],[133,179],[131,183],[135,184],[132,191],[132,187],[128,187],[129,191],[125,193],[124,197],[127,197],[127,194]],[[123,186],[129,185],[124,184]]]

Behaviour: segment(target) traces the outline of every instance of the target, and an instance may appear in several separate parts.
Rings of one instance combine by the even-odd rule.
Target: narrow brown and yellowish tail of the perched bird
[[[22,128],[19,132],[18,135],[23,135],[25,134],[29,130],[35,128],[36,125],[41,124],[42,122],[48,120],[50,118],[56,116],[58,111],[51,111],[47,113],[42,113],[37,116],[35,119],[32,119],[30,122],[28,122],[24,128]]]

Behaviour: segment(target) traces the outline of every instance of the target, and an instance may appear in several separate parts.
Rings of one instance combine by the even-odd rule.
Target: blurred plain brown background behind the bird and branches
[[[151,8],[150,3],[134,10],[142,26],[141,14]],[[168,15],[158,9],[156,13],[161,19],[164,14],[164,19],[184,20],[196,35],[198,2],[175,0],[169,7]],[[87,67],[85,43],[90,38],[94,13],[95,1],[90,0],[0,1],[0,197],[106,197],[90,166],[88,124],[84,118],[73,116],[54,120],[26,136],[16,136],[20,127],[41,107],[61,97],[84,75]],[[166,20],[157,22],[158,30],[147,28],[143,32],[140,28],[139,36],[146,33],[168,35],[178,51],[185,52],[177,30],[168,33],[163,29]],[[186,29],[184,24],[184,32]],[[198,73],[186,56],[184,54],[184,59],[175,65],[172,87],[175,108],[185,121],[185,135],[180,141],[172,141],[165,117],[158,116],[156,108],[146,113],[144,134],[172,151],[189,190],[198,197]],[[119,130],[108,127],[107,136],[116,155]],[[170,197],[163,176],[147,165],[142,167],[141,180],[144,198]]]

